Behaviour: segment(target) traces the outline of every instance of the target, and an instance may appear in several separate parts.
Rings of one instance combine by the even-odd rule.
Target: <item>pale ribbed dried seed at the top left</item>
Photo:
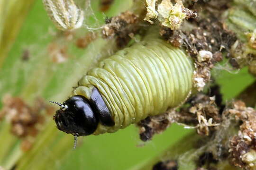
[[[46,12],[55,26],[60,30],[80,28],[83,22],[83,11],[73,0],[43,0]]]

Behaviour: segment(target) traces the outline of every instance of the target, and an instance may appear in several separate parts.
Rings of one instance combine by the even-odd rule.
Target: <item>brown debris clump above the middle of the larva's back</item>
[[[102,29],[104,38],[115,36],[119,48],[125,46],[130,37],[128,34],[138,30],[138,16],[130,11],[122,12],[119,16],[106,19],[106,25]]]

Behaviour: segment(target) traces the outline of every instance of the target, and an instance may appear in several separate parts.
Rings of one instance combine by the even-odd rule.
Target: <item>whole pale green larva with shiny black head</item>
[[[92,68],[56,111],[57,128],[74,136],[113,133],[181,104],[192,91],[192,60],[164,40],[118,51]]]

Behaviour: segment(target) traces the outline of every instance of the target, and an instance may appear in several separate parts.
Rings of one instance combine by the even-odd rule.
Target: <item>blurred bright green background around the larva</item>
[[[111,8],[103,14],[99,11],[99,1],[93,0],[91,8],[87,8],[90,15],[86,18],[86,25],[94,28],[100,27],[104,23],[105,17],[115,16],[130,8],[131,5],[132,0],[125,2],[124,0],[114,0]],[[87,31],[83,28],[79,34],[84,34]],[[37,96],[46,100],[64,101],[82,73],[84,74],[88,68],[98,62],[98,59],[101,59],[101,57],[97,57],[101,55],[98,54],[98,51],[105,48],[106,42],[99,38],[86,49],[81,50],[76,48],[74,42],[64,42],[59,36],[61,35],[56,33],[54,25],[47,17],[42,1],[35,0],[8,57],[1,63],[1,98],[4,94],[10,93],[22,97],[30,105],[33,104],[33,100]],[[53,63],[47,56],[47,45],[55,39],[57,43],[69,45],[70,57],[65,63]],[[22,61],[21,56],[26,49],[31,51],[30,58],[29,61]],[[105,55],[108,53],[110,52],[106,50]],[[224,101],[228,101],[247,85],[250,85],[254,78],[247,73],[247,68],[239,73],[229,73],[224,68],[225,63],[218,65],[213,71],[213,75],[221,86]],[[0,107],[2,107],[2,103]],[[20,169],[30,170],[45,169],[46,167],[51,170],[128,170],[162,153],[168,146],[192,131],[174,124],[163,134],[155,135],[152,141],[143,143],[139,140],[138,129],[131,125],[114,134],[79,137],[78,147],[73,149],[73,136],[58,131],[52,118],[47,120],[46,128],[41,133],[48,134],[48,138],[51,140],[42,134],[37,136],[37,144],[35,144],[38,146],[37,149],[32,149],[24,155],[22,153],[15,159],[18,161],[18,169],[19,163],[21,163]],[[8,123],[5,121],[0,122],[0,131],[7,128],[6,124]],[[8,157],[11,158],[11,150],[17,147],[19,140],[3,137],[6,136],[0,136],[1,141],[12,143],[7,152],[9,156],[4,158],[8,159]],[[44,144],[39,144],[40,142]],[[60,151],[53,149],[57,146],[60,147],[61,144],[64,148]],[[0,160],[0,162],[5,161]],[[4,165],[0,164],[0,166]]]

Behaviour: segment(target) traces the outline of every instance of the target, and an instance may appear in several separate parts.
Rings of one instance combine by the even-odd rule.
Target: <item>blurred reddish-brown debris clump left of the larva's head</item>
[[[22,140],[21,148],[27,151],[27,144],[33,143],[31,137],[37,136],[40,126],[45,122],[46,118],[41,113],[44,111],[46,115],[52,115],[54,108],[46,105],[41,98],[38,98],[31,107],[22,98],[12,97],[10,94],[6,94],[2,102],[0,120],[5,118],[11,124],[11,133],[24,140]]]

